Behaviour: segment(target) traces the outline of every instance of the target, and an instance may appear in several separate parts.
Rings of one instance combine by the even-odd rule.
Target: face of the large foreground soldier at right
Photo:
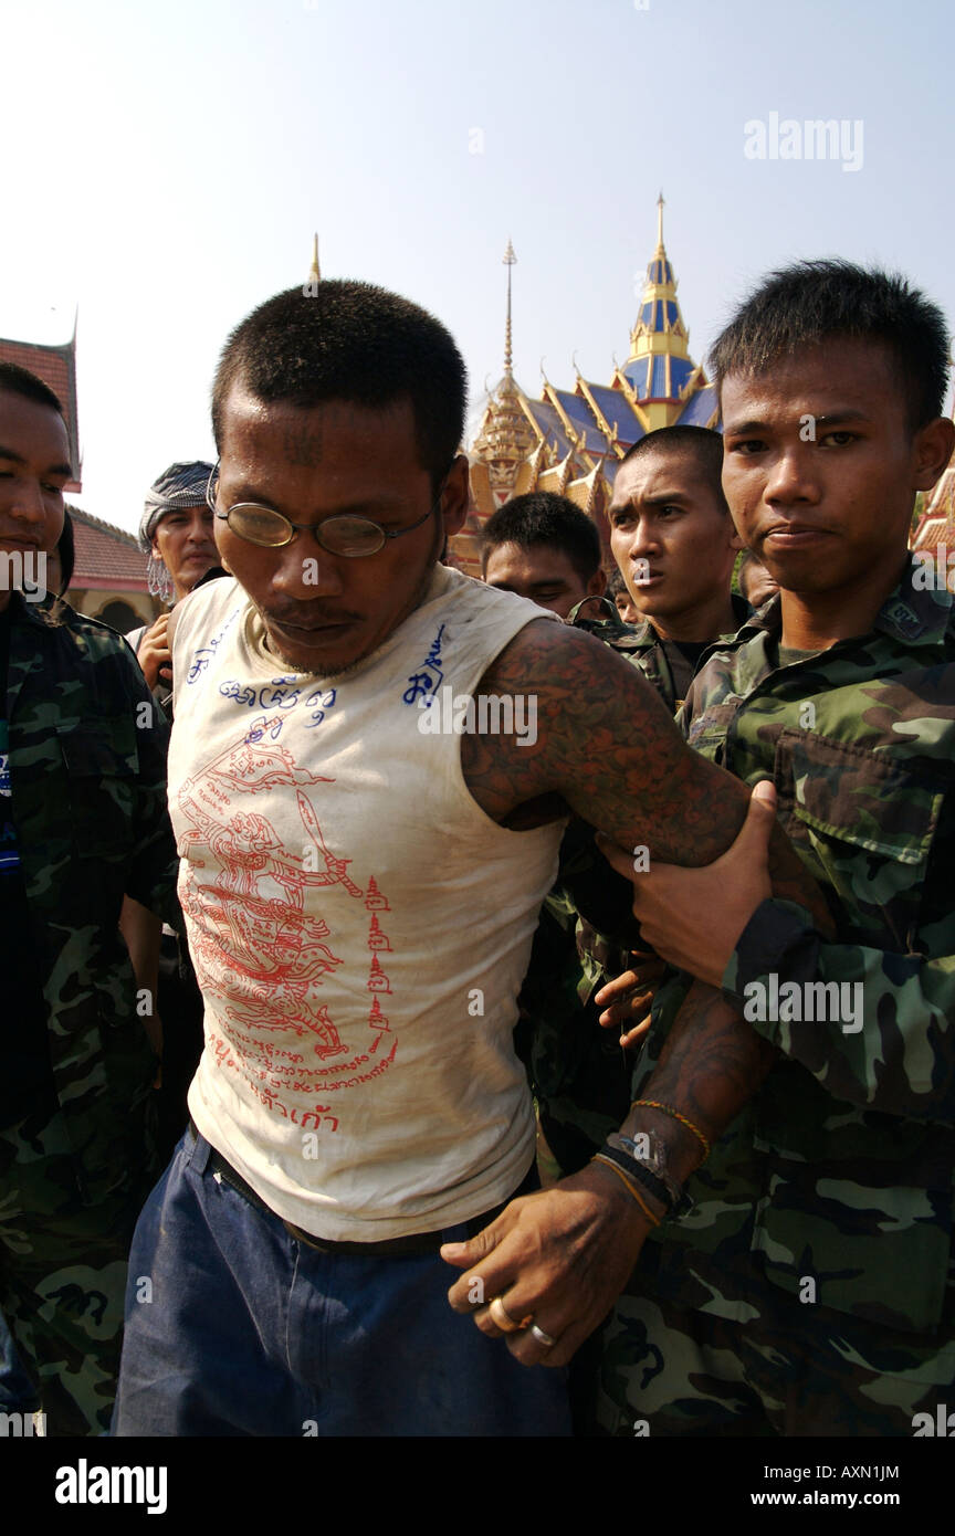
[[[912,435],[889,355],[835,339],[722,389],[723,490],[783,590],[894,584],[937,432]],[[944,459],[943,459],[944,462]],[[927,476],[927,478],[926,478]]]

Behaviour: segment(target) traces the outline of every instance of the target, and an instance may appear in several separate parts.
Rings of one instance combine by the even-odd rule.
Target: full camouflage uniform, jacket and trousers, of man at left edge
[[[11,598],[9,777],[52,1080],[0,1129],[0,1312],[49,1435],[109,1427],[155,1063],[123,894],[173,915],[167,727],[124,642]],[[32,977],[32,972],[31,972]],[[29,977],[26,978],[29,982]],[[8,1021],[8,1029],[15,1028]]]

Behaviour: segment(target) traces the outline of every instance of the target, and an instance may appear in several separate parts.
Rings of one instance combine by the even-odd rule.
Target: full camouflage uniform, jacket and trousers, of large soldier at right
[[[871,634],[809,656],[780,657],[780,624],[777,599],[712,654],[680,723],[774,780],[840,942],[786,902],[740,937],[723,991],[780,1058],[617,1303],[602,1424],[622,1435],[910,1435],[955,1405],[952,596],[909,567]],[[861,1017],[763,1021],[746,988],[774,975],[860,983]],[[657,997],[634,1097],[685,986]]]

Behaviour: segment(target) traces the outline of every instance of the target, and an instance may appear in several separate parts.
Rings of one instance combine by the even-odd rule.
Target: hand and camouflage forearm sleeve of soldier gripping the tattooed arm
[[[812,912],[774,897],[758,833],[737,839],[709,871],[659,865],[634,876],[634,912],[671,965],[708,982],[715,974],[751,1028],[834,1098],[950,1124],[955,914],[946,851],[953,837],[947,811],[924,876],[921,931],[907,951],[828,942]],[[602,848],[620,874],[628,871],[622,849]],[[869,880],[877,888],[874,871]],[[772,977],[777,992],[795,985],[812,1008],[760,1008]]]

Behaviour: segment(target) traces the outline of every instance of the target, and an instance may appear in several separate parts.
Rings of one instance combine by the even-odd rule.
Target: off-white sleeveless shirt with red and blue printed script
[[[438,565],[379,650],[322,679],[283,670],[235,581],[180,614],[169,806],[206,1003],[189,1109],[316,1236],[464,1221],[533,1161],[516,995],[565,823],[497,826],[448,723],[542,617]]]

